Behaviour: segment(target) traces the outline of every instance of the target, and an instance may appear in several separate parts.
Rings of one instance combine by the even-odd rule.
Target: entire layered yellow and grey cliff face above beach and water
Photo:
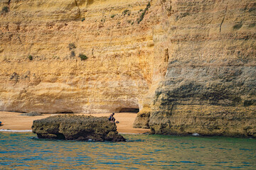
[[[153,133],[255,136],[255,6],[0,1],[0,110],[139,108]]]

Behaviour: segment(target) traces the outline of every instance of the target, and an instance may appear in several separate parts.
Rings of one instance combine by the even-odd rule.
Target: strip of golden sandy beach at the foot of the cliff
[[[4,130],[31,130],[33,120],[47,118],[56,114],[44,114],[38,116],[26,116],[16,112],[0,111],[0,121],[4,123],[0,129]],[[83,115],[83,114],[76,114]],[[96,117],[109,116],[110,113],[90,114]],[[132,128],[132,124],[137,116],[137,113],[115,113],[114,118],[119,121],[117,131],[120,133],[144,133],[149,132],[148,129]]]

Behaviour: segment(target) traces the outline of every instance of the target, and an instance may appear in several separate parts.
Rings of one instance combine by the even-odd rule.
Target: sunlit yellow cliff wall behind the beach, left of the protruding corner
[[[0,16],[0,110],[109,113],[142,107],[167,67],[154,50],[159,7],[147,4],[1,1],[8,11]],[[88,59],[81,61],[80,54]]]

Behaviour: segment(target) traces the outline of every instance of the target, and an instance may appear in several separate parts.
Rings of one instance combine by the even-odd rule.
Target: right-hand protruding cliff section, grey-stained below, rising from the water
[[[168,69],[135,127],[255,137],[255,2],[169,2]]]

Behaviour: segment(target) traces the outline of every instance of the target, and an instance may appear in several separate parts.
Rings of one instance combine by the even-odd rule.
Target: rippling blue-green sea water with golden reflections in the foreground
[[[128,142],[76,142],[0,132],[0,169],[256,169],[255,139],[124,137]]]

